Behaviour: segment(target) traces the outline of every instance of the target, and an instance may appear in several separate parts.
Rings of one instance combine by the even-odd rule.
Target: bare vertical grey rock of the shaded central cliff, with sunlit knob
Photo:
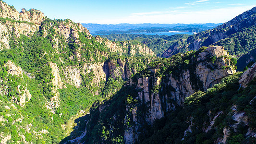
[[[215,61],[211,60],[212,58],[215,58]],[[138,140],[140,128],[152,125],[155,120],[163,118],[177,106],[183,106],[185,97],[198,90],[204,91],[218,84],[227,75],[236,72],[229,54],[223,47],[209,47],[195,57],[192,54],[189,64],[195,69],[180,68],[179,73],[166,72],[162,77],[158,77],[159,71],[162,70],[159,63],[158,66],[149,67],[142,72],[145,74],[127,81],[124,86],[135,87],[133,91],[137,91],[135,98],[132,98],[137,104],[129,104],[132,103],[129,100],[130,102],[125,105],[125,117],[122,119],[123,123],[133,123],[124,126],[123,139],[127,144],[133,144]],[[103,105],[100,108],[100,112],[104,112],[107,107]],[[116,120],[115,117],[118,115],[115,114],[112,118]],[[105,126],[114,127],[111,124]]]

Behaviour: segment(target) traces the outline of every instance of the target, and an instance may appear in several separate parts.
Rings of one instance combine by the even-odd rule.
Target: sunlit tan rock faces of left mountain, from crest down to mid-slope
[[[55,87],[52,89],[54,96],[49,102],[49,108],[54,107],[53,109],[55,109],[59,107],[58,89],[65,88],[63,82],[79,88],[83,79],[81,77],[82,74],[93,73],[92,83],[96,84],[95,86],[100,86],[100,82],[103,85],[105,84],[112,71],[116,71],[112,72],[115,74],[111,74],[115,75],[114,78],[121,76],[123,80],[128,79],[132,73],[136,72],[135,69],[133,72],[130,72],[132,68],[127,67],[125,60],[119,60],[121,62],[119,64],[121,66],[120,70],[115,70],[115,68],[106,70],[106,67],[113,65],[110,61],[105,62],[108,60],[110,53],[120,51],[122,55],[133,51],[131,52],[133,56],[135,54],[154,55],[152,50],[148,49],[145,45],[131,45],[130,42],[126,42],[123,46],[117,46],[107,39],[104,40],[101,37],[94,38],[79,23],[75,24],[68,19],[64,21],[50,20],[42,12],[35,9],[29,11],[22,9],[21,12],[17,12],[12,6],[0,1],[0,10],[0,17],[2,17],[0,21],[0,50],[3,48],[17,48],[18,46],[19,50],[25,52],[28,47],[35,46],[34,44],[23,46],[29,38],[33,39],[31,40],[32,43],[35,39],[40,39],[40,41],[44,39],[45,46],[40,50],[40,59],[44,57],[49,58],[50,55],[61,56],[57,59],[57,63],[61,62],[62,66],[56,65],[56,60],[54,60],[54,63],[49,62],[47,64],[52,69],[54,76],[52,84]],[[34,36],[35,33],[37,33],[37,36]],[[37,43],[36,45],[40,46],[42,43]],[[38,50],[38,48],[35,49]],[[72,60],[75,60],[75,64],[71,62]],[[83,62],[83,64],[78,66],[78,62]],[[59,69],[61,70],[59,71]],[[65,76],[62,81],[60,75],[57,74],[58,72],[63,72],[63,76]],[[129,74],[125,74],[125,72]],[[32,75],[35,75],[35,73],[32,73]],[[54,103],[56,106],[53,106]]]

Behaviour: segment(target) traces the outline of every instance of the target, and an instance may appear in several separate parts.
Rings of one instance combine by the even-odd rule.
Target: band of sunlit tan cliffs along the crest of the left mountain
[[[22,9],[21,12],[17,12],[12,6],[9,6],[3,1],[0,1],[0,8],[0,17],[3,18],[0,22],[0,36],[2,37],[0,39],[0,50],[3,48],[11,48],[9,42],[12,37],[20,38],[21,34],[32,36],[38,30],[43,37],[49,36],[53,43],[53,48],[57,50],[62,47],[66,48],[66,43],[70,42],[78,44],[81,47],[88,47],[83,41],[85,40],[84,35],[86,35],[85,38],[88,40],[93,39],[93,36],[91,36],[85,27],[79,23],[75,24],[71,20],[52,21],[45,17],[42,12],[35,9],[29,11]],[[14,31],[14,33],[11,33],[12,31]],[[82,38],[80,37],[81,35],[83,35]],[[131,53],[132,55],[135,53],[151,56],[155,55],[154,52],[145,45],[133,45],[131,42],[124,42],[122,45],[117,45],[109,40],[103,41],[103,38],[98,36],[96,40],[100,43],[103,42],[103,45],[110,49],[109,52]],[[92,41],[89,42],[89,45],[93,45]],[[81,53],[81,49],[75,50],[76,57],[81,58]],[[100,53],[100,55],[108,56],[108,54],[103,52]]]

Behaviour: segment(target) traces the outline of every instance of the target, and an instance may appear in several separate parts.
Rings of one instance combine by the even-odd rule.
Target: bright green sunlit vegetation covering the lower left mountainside
[[[65,137],[64,130],[61,125],[65,124],[73,115],[80,109],[89,108],[98,96],[93,96],[90,88],[76,88],[73,85],[66,84],[66,89],[60,89],[60,107],[55,109],[55,114],[45,107],[45,101],[54,95],[52,93],[53,85],[51,68],[49,62],[53,61],[60,64],[59,57],[52,48],[52,43],[48,38],[44,38],[39,33],[31,36],[21,36],[16,39],[16,43],[11,41],[11,49],[3,49],[0,51],[1,63],[1,86],[7,86],[6,95],[0,97],[1,115],[3,119],[0,129],[6,134],[11,133],[12,139],[10,142],[15,144],[22,139],[18,134],[24,134],[27,142],[33,143],[59,143]],[[47,52],[47,54],[44,54]],[[54,54],[54,57],[49,55]],[[34,78],[29,78],[26,74],[19,77],[9,74],[7,76],[8,67],[3,67],[8,60],[12,60],[17,66],[20,66],[25,72],[33,75]],[[66,60],[65,60],[66,61]],[[68,64],[77,63],[76,60],[67,61]],[[62,78],[64,78],[62,76]],[[14,106],[8,101],[19,102],[20,94],[17,86],[26,87],[32,97],[22,108],[14,103]],[[20,90],[23,90],[19,88]],[[16,99],[16,100],[15,100]],[[28,99],[27,99],[28,100]],[[10,110],[5,106],[9,106]],[[60,115],[61,114],[61,115]],[[22,118],[22,122],[15,122]],[[29,126],[31,124],[31,126]],[[30,132],[25,132],[24,127],[30,127]],[[35,132],[46,130],[43,136],[38,137]]]

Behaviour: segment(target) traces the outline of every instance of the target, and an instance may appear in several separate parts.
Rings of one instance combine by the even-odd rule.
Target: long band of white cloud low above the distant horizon
[[[195,12],[142,12],[134,13],[127,17],[115,19],[99,18],[94,21],[86,21],[82,23],[97,24],[141,24],[141,23],[159,23],[159,24],[193,24],[193,23],[225,23],[235,16],[250,10],[254,6],[244,7],[227,7],[221,9],[212,9]]]

